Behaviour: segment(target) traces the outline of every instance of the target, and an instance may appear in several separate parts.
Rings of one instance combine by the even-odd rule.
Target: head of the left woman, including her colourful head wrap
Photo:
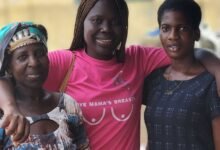
[[[0,29],[0,54],[0,76],[10,75],[16,83],[26,84],[46,80],[49,61],[44,26],[31,22],[6,25]]]

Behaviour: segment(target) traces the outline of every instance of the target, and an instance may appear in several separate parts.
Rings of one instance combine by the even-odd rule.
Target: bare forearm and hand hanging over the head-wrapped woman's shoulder
[[[29,135],[30,124],[16,106],[12,83],[0,78],[0,108],[3,110],[1,128],[6,135],[12,135],[15,144],[24,142]]]

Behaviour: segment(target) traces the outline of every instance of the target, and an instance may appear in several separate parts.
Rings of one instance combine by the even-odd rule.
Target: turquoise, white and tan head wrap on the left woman
[[[47,31],[42,25],[32,22],[11,23],[0,29],[0,74],[5,70],[4,61],[7,54],[19,47],[42,43],[47,47]]]

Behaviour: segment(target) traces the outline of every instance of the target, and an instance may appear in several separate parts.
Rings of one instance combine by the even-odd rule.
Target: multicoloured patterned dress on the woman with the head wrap
[[[88,139],[82,122],[82,114],[74,114],[78,107],[68,95],[62,94],[59,105],[47,114],[27,117],[31,124],[49,119],[59,127],[45,135],[30,135],[28,139],[15,147],[11,138],[6,138],[4,150],[76,150],[88,148]]]

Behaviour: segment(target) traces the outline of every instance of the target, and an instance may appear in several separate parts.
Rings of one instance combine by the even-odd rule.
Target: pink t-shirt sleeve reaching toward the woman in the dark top
[[[139,63],[141,70],[146,77],[157,68],[170,64],[170,59],[162,48],[130,46],[128,49],[131,57],[135,57],[135,62]]]

